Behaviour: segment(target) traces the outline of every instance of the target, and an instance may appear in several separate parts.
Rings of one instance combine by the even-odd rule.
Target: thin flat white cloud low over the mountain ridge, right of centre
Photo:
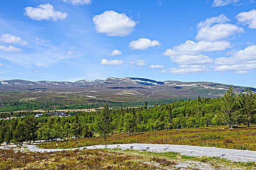
[[[180,65],[179,68],[169,68],[159,70],[160,73],[170,72],[172,74],[190,74],[190,73],[203,73],[209,69],[206,66],[197,65]]]

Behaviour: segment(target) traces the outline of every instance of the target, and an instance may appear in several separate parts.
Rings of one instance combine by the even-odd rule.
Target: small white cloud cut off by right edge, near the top
[[[256,10],[242,12],[236,15],[237,21],[249,25],[249,28],[256,29]]]

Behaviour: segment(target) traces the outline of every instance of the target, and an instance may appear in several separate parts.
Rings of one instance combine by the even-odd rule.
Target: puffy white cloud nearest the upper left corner
[[[25,16],[30,17],[33,20],[58,20],[65,19],[67,17],[67,13],[62,13],[60,11],[56,11],[50,3],[40,4],[38,7],[26,7],[24,12]]]

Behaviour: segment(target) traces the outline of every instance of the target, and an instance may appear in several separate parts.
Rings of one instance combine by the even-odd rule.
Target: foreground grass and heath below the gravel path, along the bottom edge
[[[151,153],[120,149],[75,150],[51,153],[0,150],[0,170],[253,170],[253,162],[232,162],[218,157],[179,153]]]

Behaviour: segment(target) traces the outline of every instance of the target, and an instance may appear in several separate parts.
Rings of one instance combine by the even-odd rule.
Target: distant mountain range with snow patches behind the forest
[[[70,99],[70,101],[80,100],[92,103],[97,100],[138,102],[196,99],[198,95],[202,98],[217,98],[223,96],[229,86],[210,82],[155,81],[134,77],[109,77],[106,80],[79,80],[76,82],[5,80],[0,82],[0,92],[10,93],[12,100],[26,100],[27,97],[41,101],[67,101]],[[236,92],[241,92],[247,88],[243,86],[233,87]],[[251,89],[256,92],[256,88],[251,87]],[[7,96],[1,95],[0,100],[6,98]]]

